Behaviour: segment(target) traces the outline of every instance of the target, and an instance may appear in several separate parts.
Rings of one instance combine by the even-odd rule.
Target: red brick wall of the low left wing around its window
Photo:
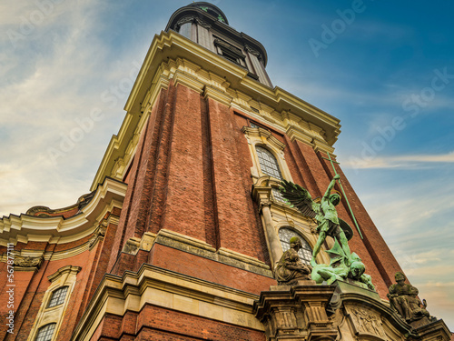
[[[119,209],[114,209],[116,216],[120,215]],[[107,214],[104,218],[107,218]],[[26,340],[30,334],[31,328],[35,323],[37,313],[42,305],[44,294],[51,282],[47,276],[53,275],[58,269],[63,266],[81,266],[81,271],[76,276],[74,290],[70,296],[68,306],[63,316],[64,323],[59,330],[57,337],[58,341],[69,340],[74,326],[76,326],[80,316],[84,312],[84,307],[87,305],[89,299],[94,294],[94,290],[99,285],[101,279],[106,272],[107,262],[110,257],[112,243],[114,241],[116,226],[109,224],[106,228],[104,240],[99,241],[91,251],[84,251],[83,253],[71,256],[68,258],[44,261],[39,270],[34,273],[33,271],[15,271],[15,334],[6,335],[5,324],[0,325],[0,339],[5,340]],[[46,252],[64,251],[73,249],[75,246],[81,246],[93,235],[86,236],[82,239],[72,243],[65,243],[60,245],[35,243],[19,244],[15,246],[17,249],[34,249]],[[0,264],[0,271],[4,274],[5,263]],[[6,302],[4,297],[7,293],[5,290],[6,276],[0,277],[0,300]],[[5,315],[4,307],[0,306],[0,314]],[[5,321],[5,319],[3,319]]]

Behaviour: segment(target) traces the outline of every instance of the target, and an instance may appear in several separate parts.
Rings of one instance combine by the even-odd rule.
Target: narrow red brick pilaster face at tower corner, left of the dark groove
[[[184,85],[175,92],[162,227],[206,240],[200,95]]]

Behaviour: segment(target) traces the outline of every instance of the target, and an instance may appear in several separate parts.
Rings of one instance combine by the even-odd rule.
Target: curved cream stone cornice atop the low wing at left
[[[107,211],[121,208],[126,184],[105,178],[93,199],[81,211],[69,218],[63,216],[11,215],[0,219],[0,245],[17,242],[48,242],[63,244],[88,236],[94,232]]]

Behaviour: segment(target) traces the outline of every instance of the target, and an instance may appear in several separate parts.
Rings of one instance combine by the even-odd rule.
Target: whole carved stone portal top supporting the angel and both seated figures
[[[442,320],[410,326],[379,294],[355,281],[271,286],[254,302],[252,313],[262,322],[268,341],[450,340]]]

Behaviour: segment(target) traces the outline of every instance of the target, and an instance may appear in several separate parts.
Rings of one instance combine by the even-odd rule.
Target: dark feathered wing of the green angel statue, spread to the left
[[[292,207],[295,206],[303,216],[311,216],[311,218],[321,216],[321,205],[314,203],[309,192],[300,185],[282,180],[279,189],[287,203]]]

